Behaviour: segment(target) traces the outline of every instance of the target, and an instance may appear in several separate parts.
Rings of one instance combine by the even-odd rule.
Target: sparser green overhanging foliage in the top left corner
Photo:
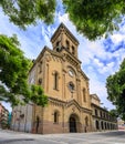
[[[21,29],[37,24],[37,20],[53,22],[55,0],[0,0],[0,6],[10,21]]]

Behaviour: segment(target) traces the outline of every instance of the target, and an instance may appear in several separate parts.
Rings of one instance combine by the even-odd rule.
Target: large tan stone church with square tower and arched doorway
[[[44,89],[49,105],[30,103],[14,107],[12,128],[42,134],[97,131],[93,124],[94,100],[90,95],[88,78],[77,58],[79,41],[61,23],[51,42],[53,50],[44,47],[29,73],[29,83]]]

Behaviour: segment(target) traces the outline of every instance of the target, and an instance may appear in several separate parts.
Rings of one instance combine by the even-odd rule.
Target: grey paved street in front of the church
[[[125,131],[40,135],[0,130],[0,144],[125,144]]]

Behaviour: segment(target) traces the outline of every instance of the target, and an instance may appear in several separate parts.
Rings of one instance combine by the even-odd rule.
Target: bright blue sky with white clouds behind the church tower
[[[107,107],[107,110],[114,109],[114,105],[106,99],[105,83],[108,75],[118,71],[119,64],[125,58],[125,21],[121,23],[119,30],[107,39],[88,41],[76,31],[75,25],[69,20],[67,13],[64,13],[61,3],[56,7],[53,24],[46,25],[38,21],[38,25],[30,25],[27,31],[11,23],[0,8],[0,34],[9,37],[17,34],[21,43],[21,50],[30,59],[37,59],[44,45],[52,49],[50,39],[61,22],[67,27],[80,42],[79,59],[82,62],[82,70],[90,79],[90,93],[97,94],[102,106]],[[3,103],[3,105],[11,111],[9,104]]]

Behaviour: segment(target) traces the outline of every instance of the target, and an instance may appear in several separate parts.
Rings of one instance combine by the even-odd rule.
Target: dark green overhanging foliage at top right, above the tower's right
[[[124,0],[63,0],[77,31],[90,40],[118,29],[125,14]]]

